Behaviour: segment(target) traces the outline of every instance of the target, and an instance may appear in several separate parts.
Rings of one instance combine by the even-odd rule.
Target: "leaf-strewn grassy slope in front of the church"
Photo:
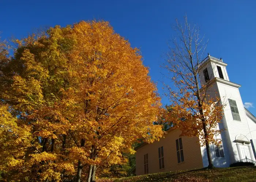
[[[142,181],[174,181],[174,182],[247,182],[256,181],[256,166],[199,169],[155,173],[127,178],[98,179],[97,182],[142,182]]]

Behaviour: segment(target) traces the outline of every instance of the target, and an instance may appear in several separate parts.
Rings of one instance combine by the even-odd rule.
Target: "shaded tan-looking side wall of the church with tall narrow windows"
[[[180,137],[180,134],[180,130],[170,129],[160,141],[150,144],[145,143],[137,147],[135,149],[136,175],[203,168],[198,138]],[[178,143],[179,141],[182,142],[182,146],[179,143],[178,150],[176,140],[178,140]],[[181,153],[183,153],[183,161]],[[178,157],[180,161],[178,161]]]

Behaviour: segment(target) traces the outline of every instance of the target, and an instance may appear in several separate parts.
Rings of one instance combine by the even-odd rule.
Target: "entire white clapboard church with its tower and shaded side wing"
[[[229,167],[237,161],[256,165],[256,117],[244,108],[241,85],[230,82],[226,66],[222,59],[210,55],[199,64],[200,82],[209,82],[222,104],[226,104],[219,123],[220,129],[225,128],[220,136],[222,145],[210,145],[212,161],[215,167]],[[207,167],[206,148],[199,145],[199,139],[180,134],[180,130],[171,128],[160,141],[138,146],[136,175]]]

